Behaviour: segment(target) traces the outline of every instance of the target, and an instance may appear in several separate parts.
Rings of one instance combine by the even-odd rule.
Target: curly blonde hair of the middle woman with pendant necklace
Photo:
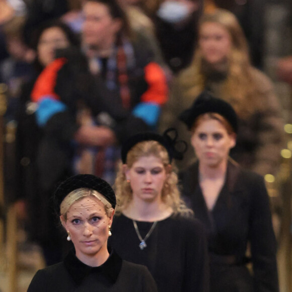
[[[151,155],[161,159],[165,168],[170,165],[167,150],[159,142],[151,140],[139,142],[132,147],[127,154],[127,167],[131,168],[140,157],[148,157]],[[193,212],[191,209],[187,208],[185,202],[181,199],[178,189],[176,168],[174,163],[171,165],[171,171],[168,173],[162,189],[162,201],[173,209],[174,214],[179,213],[183,216],[190,216]],[[126,180],[122,163],[120,163],[118,167],[114,189],[117,198],[117,209],[115,214],[119,215],[132,200],[132,189]]]

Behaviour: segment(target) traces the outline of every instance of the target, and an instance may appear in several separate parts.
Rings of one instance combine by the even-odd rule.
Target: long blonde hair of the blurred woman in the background
[[[232,48],[227,56],[227,78],[217,96],[231,103],[241,117],[246,117],[263,105],[258,98],[261,93],[253,78],[253,67],[244,32],[235,15],[224,9],[216,9],[203,15],[199,21],[199,31],[204,23],[216,23],[224,27],[230,35]],[[203,72],[205,64],[198,45],[190,68],[180,79],[187,96],[192,99],[205,88],[206,77]]]

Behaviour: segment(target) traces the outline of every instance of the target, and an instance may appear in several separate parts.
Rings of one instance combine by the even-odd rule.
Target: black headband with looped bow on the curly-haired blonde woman
[[[163,145],[168,152],[169,163],[172,162],[173,158],[177,160],[183,159],[183,154],[186,152],[187,144],[183,140],[177,140],[178,134],[175,128],[167,129],[163,135],[154,132],[141,132],[130,136],[122,145],[121,157],[122,162],[127,162],[127,154],[132,147],[143,141],[157,141]],[[181,150],[179,149],[181,148]]]

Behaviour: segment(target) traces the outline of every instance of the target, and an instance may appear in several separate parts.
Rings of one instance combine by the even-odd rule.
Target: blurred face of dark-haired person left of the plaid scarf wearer
[[[39,62],[46,66],[55,58],[55,50],[69,46],[65,33],[59,27],[50,27],[40,36],[37,51]]]

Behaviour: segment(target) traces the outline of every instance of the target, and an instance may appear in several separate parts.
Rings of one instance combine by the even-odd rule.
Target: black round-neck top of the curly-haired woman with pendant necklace
[[[142,238],[153,225],[136,223]],[[123,259],[147,266],[159,292],[208,291],[206,237],[194,218],[171,215],[157,223],[146,248],[141,250],[139,243],[133,221],[116,216],[109,244]]]

